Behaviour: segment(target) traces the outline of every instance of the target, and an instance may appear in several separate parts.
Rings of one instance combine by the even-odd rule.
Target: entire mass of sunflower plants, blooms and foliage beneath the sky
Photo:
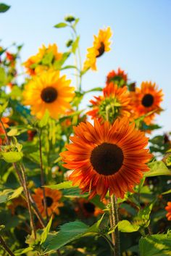
[[[0,256],[171,255],[164,92],[120,67],[83,90],[114,38],[99,28],[82,61],[78,22],[54,25],[72,35],[64,52],[43,44],[23,61],[22,45],[1,42]]]

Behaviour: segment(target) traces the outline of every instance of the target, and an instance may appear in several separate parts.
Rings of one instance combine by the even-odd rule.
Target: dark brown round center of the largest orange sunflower
[[[109,176],[117,173],[123,163],[123,152],[116,144],[103,143],[91,152],[91,165],[97,173]]]

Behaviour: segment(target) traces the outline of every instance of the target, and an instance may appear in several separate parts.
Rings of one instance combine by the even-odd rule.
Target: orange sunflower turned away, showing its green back
[[[93,110],[87,112],[92,119],[95,117],[101,123],[109,120],[113,123],[119,117],[131,117],[130,93],[126,86],[119,88],[117,84],[109,83],[103,90],[103,96],[94,96],[91,100]]]

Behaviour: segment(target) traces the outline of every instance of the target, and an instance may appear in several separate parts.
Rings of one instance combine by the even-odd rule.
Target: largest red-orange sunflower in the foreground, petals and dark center
[[[68,151],[60,155],[64,167],[74,170],[69,179],[73,185],[80,186],[83,192],[89,191],[90,197],[96,194],[104,199],[107,191],[116,197],[124,197],[125,192],[133,192],[143,172],[149,170],[146,165],[151,159],[149,149],[145,149],[148,139],[144,133],[129,125],[127,117],[100,124],[80,123],[74,128],[72,144]]]

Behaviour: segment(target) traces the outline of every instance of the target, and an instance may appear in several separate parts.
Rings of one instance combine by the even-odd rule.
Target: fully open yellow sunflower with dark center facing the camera
[[[31,106],[31,114],[43,117],[46,110],[53,118],[70,109],[70,101],[74,96],[74,88],[66,76],[59,77],[59,71],[46,71],[34,76],[25,86],[24,104]]]

